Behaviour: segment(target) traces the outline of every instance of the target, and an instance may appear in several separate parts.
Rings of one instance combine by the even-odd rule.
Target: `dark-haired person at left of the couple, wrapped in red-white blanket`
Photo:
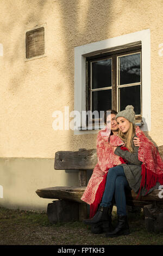
[[[117,112],[115,110],[105,111],[104,123],[105,128],[100,130],[97,135],[97,159],[98,162],[93,170],[92,176],[87,184],[82,200],[90,205],[90,218],[92,218],[101,203],[105,189],[106,175],[108,170],[122,163],[120,157],[114,154],[114,147],[124,145],[118,137],[118,126],[116,122]],[[102,233],[111,229],[111,211],[106,212],[107,221],[91,224],[92,233]]]

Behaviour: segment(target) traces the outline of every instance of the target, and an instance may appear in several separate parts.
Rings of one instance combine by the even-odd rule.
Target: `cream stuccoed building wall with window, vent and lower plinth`
[[[2,0],[0,206],[45,210],[35,190],[77,186],[55,152],[95,148],[101,116],[135,108],[163,145],[163,1]],[[109,75],[108,75],[109,74]],[[99,127],[100,128],[100,127]]]

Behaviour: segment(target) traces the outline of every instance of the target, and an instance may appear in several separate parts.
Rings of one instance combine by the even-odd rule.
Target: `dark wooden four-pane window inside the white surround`
[[[133,105],[136,122],[142,121],[141,44],[86,57],[86,76],[86,111]],[[99,118],[90,122],[96,126]]]

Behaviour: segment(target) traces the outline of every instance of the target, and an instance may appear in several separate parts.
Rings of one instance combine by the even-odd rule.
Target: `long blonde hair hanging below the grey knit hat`
[[[130,127],[127,133],[122,133],[121,130],[118,130],[118,135],[124,141],[125,146],[128,148],[129,152],[133,153],[133,138],[135,136],[135,127],[133,123],[130,122]]]

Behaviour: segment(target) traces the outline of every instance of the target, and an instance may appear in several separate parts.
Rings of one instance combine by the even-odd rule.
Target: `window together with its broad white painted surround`
[[[130,71],[127,70],[126,65],[124,64],[122,65],[122,61],[124,61],[125,58],[126,58],[125,60],[126,62],[129,58],[135,59],[134,54],[137,54],[136,56],[137,61],[139,61],[138,57],[140,56],[140,72],[139,72],[139,67],[137,67],[139,66],[137,65],[138,64],[137,62],[136,62],[136,67],[132,66],[133,70],[130,70]],[[129,55],[131,57],[129,57]],[[98,58],[99,60],[111,58],[111,61],[108,60],[108,61],[105,61],[104,63],[105,63],[105,66],[107,63],[108,66],[111,65],[112,67],[111,69],[112,78],[110,78],[112,84],[108,78],[108,79],[105,79],[106,82],[108,83],[107,85],[105,85],[107,87],[105,86],[102,87],[103,81],[99,82],[99,79],[96,78],[96,80],[98,81],[98,84],[94,83],[93,85],[94,87],[92,88],[92,90],[94,91],[91,93],[90,90],[91,90],[92,81],[90,81],[91,79],[90,67],[91,67],[91,62],[98,61]],[[117,72],[118,65],[119,65],[119,73]],[[123,66],[126,67],[126,69],[123,69]],[[105,74],[105,69],[103,69],[103,72]],[[130,78],[128,76],[128,81],[126,82],[125,77],[127,72],[128,72],[128,75],[130,75]],[[136,76],[132,75],[132,73],[135,73]],[[97,87],[97,85],[99,87]],[[104,89],[102,90],[102,88]],[[101,92],[98,92],[98,90]],[[140,117],[140,121],[142,120],[142,123],[141,122],[139,123],[139,125],[141,126],[141,130],[143,130],[144,132],[151,130],[151,32],[150,32],[150,29],[144,29],[144,30],[136,31],[129,34],[118,35],[117,37],[108,38],[108,39],[96,41],[90,44],[74,47],[74,110],[78,111],[80,115],[82,115],[83,111],[86,111],[92,108],[92,105],[91,105],[92,94],[94,93],[93,97],[94,99],[95,97],[97,99],[100,93],[101,95],[103,94],[103,96],[105,96],[105,93],[102,91],[106,92],[107,90],[108,92],[110,90],[112,108],[118,111],[121,108],[123,108],[124,97],[126,99],[126,103],[127,103],[127,100],[129,102],[131,94],[127,94],[128,92],[131,93],[132,91],[134,91],[132,92],[133,96],[135,93],[137,93],[137,95],[140,95],[139,96],[140,104],[137,104],[137,102],[136,104],[137,106],[140,106],[141,115],[140,115],[140,109],[139,108],[136,109],[137,106],[135,105],[136,119],[137,119],[136,122],[139,122],[139,117]],[[120,100],[118,98],[118,95],[120,95]],[[127,97],[127,95],[129,97]],[[103,99],[103,96],[101,96],[102,99]],[[109,94],[108,94],[108,97],[109,97]],[[106,100],[108,100],[108,97],[106,97]],[[96,100],[96,103],[97,103],[97,100]],[[100,101],[100,103],[104,104],[103,101]],[[94,105],[95,105],[95,108],[102,109],[101,106],[96,106],[95,100],[94,100]],[[133,101],[132,101],[132,105],[134,105]],[[104,108],[105,108],[105,105],[104,105]],[[75,135],[96,134],[99,125],[97,125],[97,127],[95,125],[95,130],[83,129],[83,127],[86,127],[86,121],[83,121],[81,118],[80,127],[74,130],[74,134]]]

